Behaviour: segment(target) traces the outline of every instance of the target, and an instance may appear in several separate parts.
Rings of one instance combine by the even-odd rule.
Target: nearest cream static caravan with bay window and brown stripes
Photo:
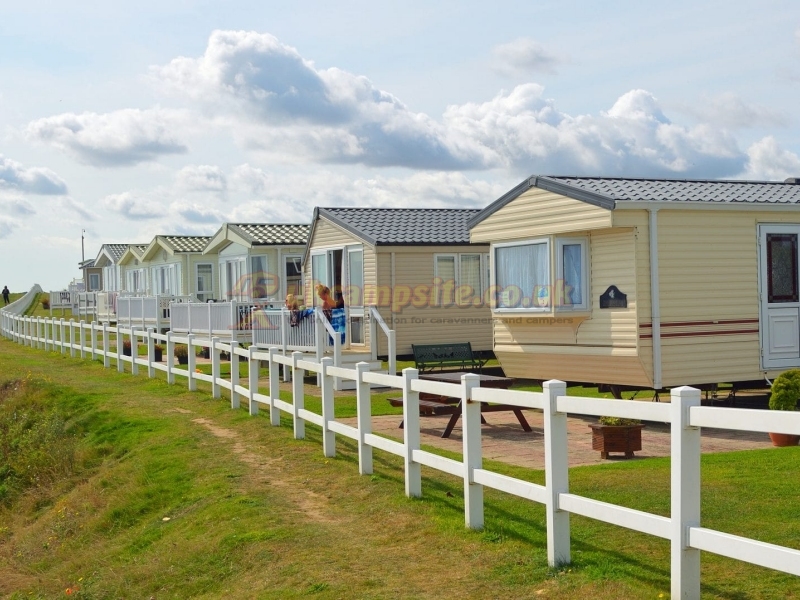
[[[798,182],[525,180],[469,223],[504,371],[660,389],[800,367]]]

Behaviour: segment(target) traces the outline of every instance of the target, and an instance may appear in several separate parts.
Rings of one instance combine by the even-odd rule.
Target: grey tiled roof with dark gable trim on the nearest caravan
[[[617,202],[700,202],[708,204],[800,204],[800,180],[737,181],[638,179],[622,177],[531,176],[483,209],[472,228],[532,187],[614,210]]]

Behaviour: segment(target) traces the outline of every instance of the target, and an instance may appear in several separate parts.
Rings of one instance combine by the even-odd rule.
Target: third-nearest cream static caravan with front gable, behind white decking
[[[309,228],[289,223],[223,224],[203,250],[204,255],[218,257],[220,298],[263,299],[282,306],[288,293],[302,297],[301,264]]]

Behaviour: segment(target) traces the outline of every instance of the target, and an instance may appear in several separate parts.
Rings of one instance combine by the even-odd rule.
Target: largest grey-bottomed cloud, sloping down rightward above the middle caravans
[[[269,34],[215,31],[203,56],[176,58],[152,73],[165,89],[207,109],[244,111],[268,126],[268,139],[249,136],[256,147],[281,144],[322,161],[427,169],[468,168],[479,159],[367,78],[316,69]]]

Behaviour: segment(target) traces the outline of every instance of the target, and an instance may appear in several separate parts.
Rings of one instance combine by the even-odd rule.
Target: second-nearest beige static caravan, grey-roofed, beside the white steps
[[[398,355],[415,343],[469,341],[490,350],[489,244],[471,243],[467,228],[478,212],[315,208],[303,259],[306,304],[318,304],[317,283],[341,294],[351,349],[369,347],[365,307],[374,305],[395,331]],[[386,354],[384,336],[378,344]]]

